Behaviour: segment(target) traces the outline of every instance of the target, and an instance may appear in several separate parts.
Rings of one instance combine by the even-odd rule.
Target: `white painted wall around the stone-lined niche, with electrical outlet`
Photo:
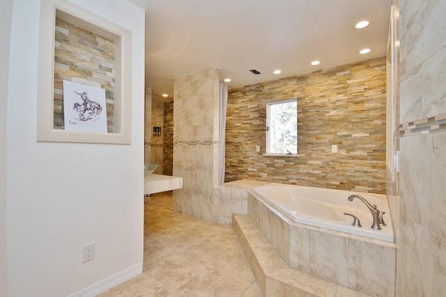
[[[132,143],[36,142],[40,1],[13,0],[6,129],[10,297],[67,296],[143,260],[144,10],[125,0],[72,2],[132,31]],[[2,143],[3,132],[1,126]],[[2,169],[1,180],[4,175]],[[3,230],[0,236],[3,250]],[[91,241],[95,259],[82,264],[82,246]]]

